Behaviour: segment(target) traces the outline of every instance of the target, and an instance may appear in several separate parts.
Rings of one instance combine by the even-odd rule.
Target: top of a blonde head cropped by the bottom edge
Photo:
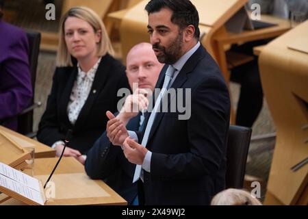
[[[219,192],[211,200],[211,205],[262,205],[249,192],[238,189],[228,189]]]

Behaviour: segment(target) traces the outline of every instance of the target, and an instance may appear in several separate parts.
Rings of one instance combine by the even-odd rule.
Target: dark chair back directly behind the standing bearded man
[[[226,188],[243,188],[251,131],[237,125],[229,127]]]

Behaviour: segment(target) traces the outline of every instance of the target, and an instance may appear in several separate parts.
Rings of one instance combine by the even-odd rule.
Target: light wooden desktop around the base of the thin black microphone
[[[45,183],[56,162],[57,158],[36,159],[35,177]],[[49,198],[45,205],[127,205],[127,201],[103,181],[90,179],[84,166],[73,157],[62,158],[51,181],[55,183],[55,198]],[[23,205],[14,198],[1,204]]]

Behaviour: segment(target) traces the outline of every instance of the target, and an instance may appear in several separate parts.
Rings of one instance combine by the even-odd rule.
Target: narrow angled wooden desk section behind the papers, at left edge
[[[55,157],[55,150],[51,149],[50,146],[42,144],[31,138],[27,138],[26,136],[23,136],[20,133],[17,133],[15,131],[12,131],[11,129],[7,129],[1,125],[0,125],[0,131],[3,131],[9,138],[12,138],[14,142],[16,142],[18,145],[22,147],[25,147],[25,148],[34,147],[36,151],[36,154],[35,154],[36,158]]]

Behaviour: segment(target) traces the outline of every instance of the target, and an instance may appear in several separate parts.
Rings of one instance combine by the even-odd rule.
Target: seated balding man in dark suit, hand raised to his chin
[[[127,97],[123,110],[118,114],[127,124],[127,129],[138,131],[142,127],[144,116],[138,109],[146,108],[148,102],[144,93],[153,92],[162,66],[149,43],[137,44],[129,51],[126,73],[133,94]],[[131,107],[138,108],[133,111],[129,110]],[[105,132],[88,151],[85,168],[89,177],[105,179],[129,205],[136,204],[133,201],[137,200],[137,185],[132,183],[136,165],[127,161],[120,147],[112,146]]]

